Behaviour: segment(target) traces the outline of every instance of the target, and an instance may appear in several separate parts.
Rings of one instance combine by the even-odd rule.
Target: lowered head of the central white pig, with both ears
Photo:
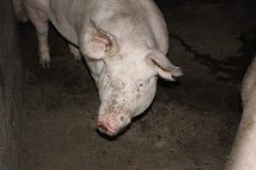
[[[101,101],[96,127],[110,136],[148,108],[158,76],[174,81],[183,74],[159,50],[123,41],[102,30],[91,28],[82,41],[80,50],[90,60]]]

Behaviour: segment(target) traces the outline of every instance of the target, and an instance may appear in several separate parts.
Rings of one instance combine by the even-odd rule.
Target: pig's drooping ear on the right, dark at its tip
[[[160,51],[154,51],[148,54],[148,59],[154,65],[158,75],[166,80],[175,81],[175,77],[183,76],[182,69],[172,65],[169,59],[166,58],[166,55]]]

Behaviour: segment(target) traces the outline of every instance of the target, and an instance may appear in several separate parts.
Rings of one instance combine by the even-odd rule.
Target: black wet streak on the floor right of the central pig
[[[214,59],[211,54],[201,54],[177,34],[171,34],[170,37],[180,42],[186,51],[192,53],[194,61],[199,61],[202,65],[207,65],[210,70],[209,74],[215,76],[215,80],[218,82],[240,83],[247,70],[247,66],[256,53],[256,28],[252,28],[246,33],[242,32],[240,36],[237,37],[242,44],[241,48],[239,48],[241,55],[230,56],[225,60]],[[227,76],[219,76],[219,74],[223,73]]]

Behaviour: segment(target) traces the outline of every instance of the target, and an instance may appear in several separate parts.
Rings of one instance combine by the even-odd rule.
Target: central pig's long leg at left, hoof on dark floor
[[[49,44],[48,44],[48,30],[49,30],[48,16],[40,8],[33,8],[30,6],[26,6],[26,12],[29,19],[32,21],[33,26],[35,26],[35,29],[37,31],[40,64],[44,68],[49,67],[50,56],[49,56]]]

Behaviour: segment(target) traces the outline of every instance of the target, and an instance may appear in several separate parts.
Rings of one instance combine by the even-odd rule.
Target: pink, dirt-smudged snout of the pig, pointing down
[[[109,136],[114,136],[123,130],[129,123],[131,118],[125,116],[109,116],[108,118],[99,119],[96,122],[96,128]]]

